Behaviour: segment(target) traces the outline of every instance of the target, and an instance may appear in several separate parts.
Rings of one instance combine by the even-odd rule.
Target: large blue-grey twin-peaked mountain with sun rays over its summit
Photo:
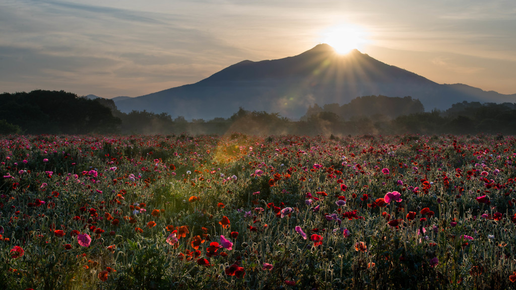
[[[462,101],[513,102],[516,94],[465,85],[441,85],[354,50],[335,53],[328,44],[276,60],[244,60],[198,83],[115,100],[123,112],[167,112],[186,119],[229,117],[239,107],[299,118],[314,103],[345,104],[363,95],[412,96],[426,110]]]

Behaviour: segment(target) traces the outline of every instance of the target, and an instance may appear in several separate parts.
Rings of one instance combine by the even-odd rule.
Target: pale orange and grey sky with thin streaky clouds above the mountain
[[[0,92],[139,96],[319,43],[516,93],[514,0],[0,0]]]

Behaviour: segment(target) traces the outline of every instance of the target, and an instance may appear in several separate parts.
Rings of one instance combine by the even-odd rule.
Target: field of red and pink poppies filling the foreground
[[[4,136],[2,289],[516,288],[508,136]]]

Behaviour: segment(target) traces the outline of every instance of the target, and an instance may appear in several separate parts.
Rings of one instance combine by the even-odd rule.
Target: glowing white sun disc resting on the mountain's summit
[[[364,29],[352,24],[340,24],[322,33],[322,42],[331,45],[339,54],[361,49],[367,43]]]

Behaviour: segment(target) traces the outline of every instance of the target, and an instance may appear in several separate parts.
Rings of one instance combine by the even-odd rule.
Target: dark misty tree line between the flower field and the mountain
[[[315,104],[299,121],[240,108],[230,118],[205,121],[167,113],[119,111],[112,100],[65,91],[0,94],[0,134],[516,134],[516,104],[457,103],[425,112],[410,97],[362,96],[342,106]]]

